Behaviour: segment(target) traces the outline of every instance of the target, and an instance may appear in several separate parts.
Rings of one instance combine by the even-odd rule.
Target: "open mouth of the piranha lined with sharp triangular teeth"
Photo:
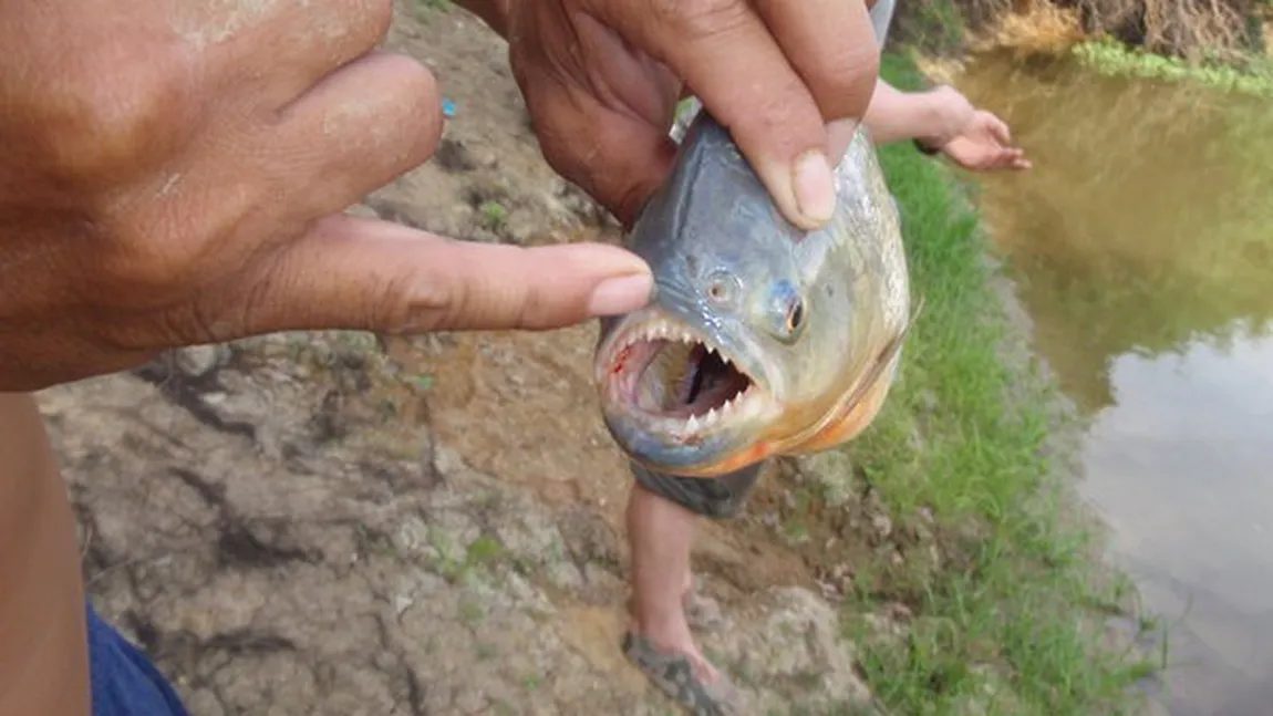
[[[658,427],[701,432],[754,415],[761,388],[691,331],[656,318],[624,331],[607,361],[611,397]]]

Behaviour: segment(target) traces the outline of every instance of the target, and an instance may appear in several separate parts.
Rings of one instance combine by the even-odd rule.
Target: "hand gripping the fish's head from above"
[[[508,38],[547,162],[624,224],[671,168],[667,132],[682,90],[729,127],[792,224],[830,219],[830,167],[878,72],[862,1],[462,4]]]

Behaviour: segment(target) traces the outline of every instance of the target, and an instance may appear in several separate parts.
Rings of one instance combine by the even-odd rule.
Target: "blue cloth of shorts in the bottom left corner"
[[[159,669],[88,607],[93,716],[188,716]]]

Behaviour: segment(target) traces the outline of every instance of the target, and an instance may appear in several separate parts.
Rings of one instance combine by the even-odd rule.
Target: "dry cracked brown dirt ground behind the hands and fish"
[[[502,41],[401,4],[390,45],[456,116],[356,211],[474,240],[612,235],[541,159]],[[629,477],[594,337],[285,334],[46,392],[95,604],[195,716],[675,713],[619,650]],[[835,605],[853,553],[785,529],[803,474],[771,469],[696,548],[699,633],[755,713],[868,698]],[[850,497],[836,529],[887,535]]]

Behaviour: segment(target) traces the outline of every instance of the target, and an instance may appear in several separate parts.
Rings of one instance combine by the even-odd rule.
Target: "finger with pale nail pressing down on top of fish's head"
[[[835,192],[825,117],[750,3],[592,0],[588,8],[671,67],[729,128],[788,221],[816,229],[830,220]],[[875,70],[872,65],[861,71]]]

